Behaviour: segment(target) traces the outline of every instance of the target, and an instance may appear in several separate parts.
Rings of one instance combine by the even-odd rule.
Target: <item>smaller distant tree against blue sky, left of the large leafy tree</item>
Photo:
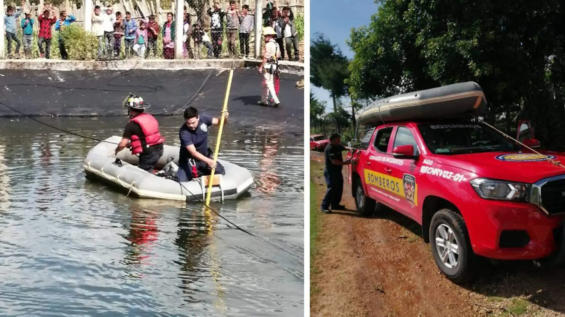
[[[314,35],[314,41],[310,45],[310,82],[329,91],[333,111],[337,112],[336,99],[347,94],[345,80],[349,78],[349,60],[323,34]]]

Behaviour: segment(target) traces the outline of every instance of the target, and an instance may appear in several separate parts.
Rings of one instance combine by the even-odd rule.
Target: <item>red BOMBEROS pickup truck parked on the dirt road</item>
[[[531,130],[520,122],[517,139],[537,147]],[[436,120],[377,125],[347,156],[358,212],[385,205],[421,224],[455,283],[473,278],[477,256],[564,261],[564,153],[528,151],[485,124]]]

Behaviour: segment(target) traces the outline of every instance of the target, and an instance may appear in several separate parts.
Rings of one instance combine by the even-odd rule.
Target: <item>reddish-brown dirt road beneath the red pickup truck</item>
[[[325,193],[323,155],[310,151],[311,180]],[[344,178],[345,178],[344,168]],[[440,274],[419,225],[385,210],[371,218],[355,210],[321,217],[312,262],[311,316],[564,316],[565,268],[545,271],[531,261],[481,262],[475,283],[461,287]],[[320,212],[319,208],[311,210]]]

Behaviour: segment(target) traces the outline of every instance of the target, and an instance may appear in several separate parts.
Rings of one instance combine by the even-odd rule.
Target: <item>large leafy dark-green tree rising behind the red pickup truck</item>
[[[347,43],[354,99],[475,81],[486,121],[511,127],[529,117],[543,139],[555,139],[547,127],[565,120],[559,0],[379,2],[370,25],[353,29]]]

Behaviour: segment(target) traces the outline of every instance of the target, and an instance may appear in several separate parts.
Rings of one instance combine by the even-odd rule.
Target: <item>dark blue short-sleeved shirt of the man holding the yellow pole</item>
[[[203,156],[208,156],[208,127],[211,125],[212,117],[200,115],[196,130],[190,130],[188,126],[186,126],[186,123],[180,127],[179,165],[187,163],[188,159],[192,157],[186,149],[190,144],[193,144],[196,151]]]

